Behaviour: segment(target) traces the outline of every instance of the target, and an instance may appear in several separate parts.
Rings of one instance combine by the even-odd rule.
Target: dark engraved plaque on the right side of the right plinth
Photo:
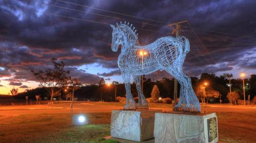
[[[216,117],[207,119],[208,126],[208,142],[211,142],[218,136]]]

